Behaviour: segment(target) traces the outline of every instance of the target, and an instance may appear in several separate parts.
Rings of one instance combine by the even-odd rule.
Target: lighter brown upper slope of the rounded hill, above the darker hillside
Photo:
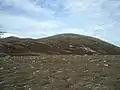
[[[107,43],[97,38],[79,35],[79,34],[59,34],[59,35],[51,36],[48,38],[39,39],[39,41],[50,43],[50,44],[53,43],[54,47],[61,44],[61,49],[66,48],[66,46],[68,45],[75,45],[78,47],[81,47],[81,46],[88,47],[96,51],[96,53],[120,54],[120,48],[115,45],[112,45],[110,43]],[[75,52],[77,52],[77,49]]]

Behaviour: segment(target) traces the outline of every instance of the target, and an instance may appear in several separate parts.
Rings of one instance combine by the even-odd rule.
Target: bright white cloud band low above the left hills
[[[55,20],[39,21],[23,16],[0,14],[0,23],[6,31],[19,35],[51,34],[62,27],[62,23]]]

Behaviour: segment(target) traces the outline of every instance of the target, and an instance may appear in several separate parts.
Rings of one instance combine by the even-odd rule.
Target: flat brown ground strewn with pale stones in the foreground
[[[120,55],[1,57],[0,90],[120,90]]]

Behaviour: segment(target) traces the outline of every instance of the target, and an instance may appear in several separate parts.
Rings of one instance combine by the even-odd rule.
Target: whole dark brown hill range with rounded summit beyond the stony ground
[[[58,34],[41,39],[8,37],[0,40],[1,55],[120,55],[120,47],[90,36]]]

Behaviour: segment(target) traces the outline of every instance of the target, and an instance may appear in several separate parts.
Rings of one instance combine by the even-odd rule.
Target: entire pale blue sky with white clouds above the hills
[[[4,37],[75,33],[120,46],[120,0],[0,0],[0,30]]]

